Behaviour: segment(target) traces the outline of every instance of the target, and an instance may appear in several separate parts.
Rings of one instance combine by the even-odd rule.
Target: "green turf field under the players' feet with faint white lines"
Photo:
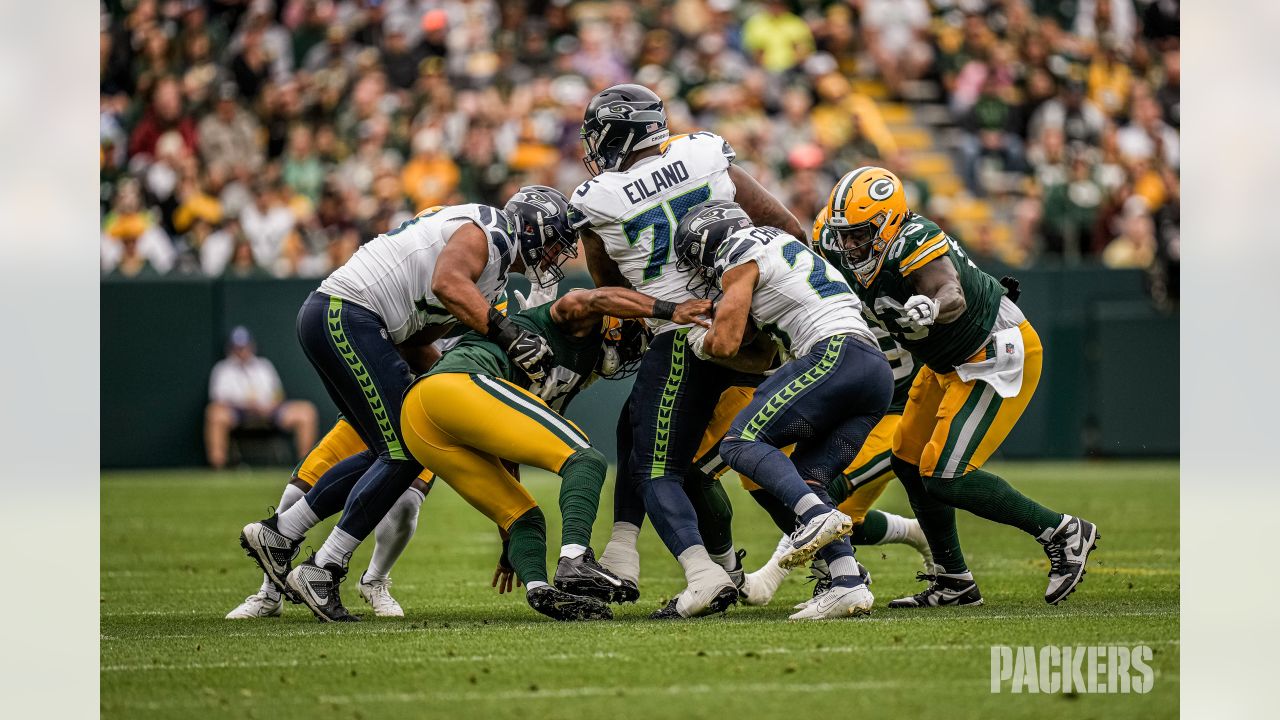
[[[792,575],[768,607],[654,623],[645,616],[682,587],[652,529],[641,536],[643,597],[617,620],[557,624],[522,591],[489,588],[492,525],[444,486],[422,506],[417,537],[396,568],[407,618],[321,625],[302,606],[284,618],[223,615],[261,579],[237,544],[239,527],[279,497],[287,471],[105,473],[101,544],[101,707],[105,717],[1156,717],[1178,711],[1178,466],[1174,462],[993,464],[1024,492],[1098,524],[1092,570],[1061,607],[1042,600],[1047,561],[1030,538],[960,520],[987,605],[891,611],[916,592],[918,556],[872,547],[877,607],[858,620],[792,623],[808,597]],[[558,544],[556,478],[526,473]],[[611,483],[612,486],[612,483]],[[777,541],[765,515],[731,488],[739,546],[755,569]],[[608,534],[605,497],[594,544]],[[910,514],[895,484],[881,507]],[[325,524],[324,530],[330,525]],[[315,532],[308,544],[319,546]],[[554,552],[554,550],[553,550]],[[552,565],[554,569],[554,565]],[[1148,694],[992,694],[992,644],[1147,644]]]

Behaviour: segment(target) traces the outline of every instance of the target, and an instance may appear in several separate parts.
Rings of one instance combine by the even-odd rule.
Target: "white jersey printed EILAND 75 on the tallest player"
[[[733,156],[718,135],[677,135],[663,143],[660,155],[577,186],[568,201],[570,223],[595,231],[640,292],[671,302],[689,300],[692,274],[676,269],[676,225],[694,205],[733,200],[728,177]],[[676,325],[650,320],[650,327],[660,332]]]

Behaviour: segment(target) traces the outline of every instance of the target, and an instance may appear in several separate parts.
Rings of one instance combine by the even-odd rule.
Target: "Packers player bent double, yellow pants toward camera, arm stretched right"
[[[605,315],[704,324],[699,315],[709,307],[708,301],[676,305],[617,287],[576,290],[511,318],[552,347],[556,365],[543,378],[532,380],[492,338],[468,333],[410,388],[401,420],[410,452],[498,524],[508,538],[503,556],[538,612],[556,620],[609,619],[607,602],[636,600],[634,587],[602,568],[591,550],[608,462],[561,414],[600,368]],[[562,478],[553,583],[543,511],[504,461]]]

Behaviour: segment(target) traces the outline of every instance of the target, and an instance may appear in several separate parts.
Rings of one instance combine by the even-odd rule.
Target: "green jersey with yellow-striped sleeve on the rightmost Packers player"
[[[933,325],[911,322],[902,304],[918,295],[910,275],[932,260],[946,258],[960,277],[965,311],[955,320]],[[837,264],[838,265],[838,264]],[[916,360],[940,373],[950,373],[972,357],[991,336],[1005,287],[982,272],[960,245],[933,220],[911,213],[897,238],[884,251],[879,272],[864,286],[844,266],[841,273],[861,299],[867,310]]]

